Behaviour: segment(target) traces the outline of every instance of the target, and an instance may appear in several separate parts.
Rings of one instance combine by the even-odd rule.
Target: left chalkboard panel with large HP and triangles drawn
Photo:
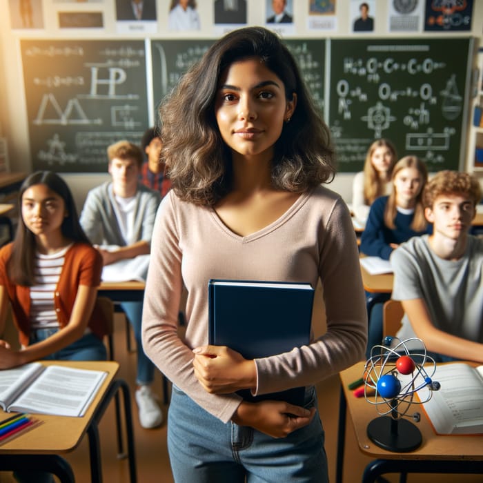
[[[106,172],[148,126],[144,41],[22,40],[34,170]]]

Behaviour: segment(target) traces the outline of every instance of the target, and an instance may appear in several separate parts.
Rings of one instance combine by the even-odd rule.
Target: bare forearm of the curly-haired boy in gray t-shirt
[[[402,306],[413,331],[422,339],[428,351],[483,363],[483,344],[440,331],[431,322],[423,299],[403,300]]]

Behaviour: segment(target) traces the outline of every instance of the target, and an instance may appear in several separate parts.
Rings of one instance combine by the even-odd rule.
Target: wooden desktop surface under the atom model
[[[364,362],[359,362],[340,373],[347,410],[362,453],[384,460],[397,460],[402,455],[406,460],[483,460],[483,435],[437,435],[420,404],[414,404],[408,411],[409,414],[421,414],[420,422],[415,423],[422,433],[420,448],[409,453],[393,453],[374,444],[367,436],[367,425],[380,415],[375,406],[366,402],[364,397],[355,397],[348,389],[348,384],[362,377],[363,372]],[[437,369],[434,379],[437,380]]]

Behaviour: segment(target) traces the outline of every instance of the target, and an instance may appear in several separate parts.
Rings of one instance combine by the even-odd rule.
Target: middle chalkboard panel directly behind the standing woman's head
[[[153,40],[152,90],[157,106],[176,85],[181,75],[201,59],[214,40]],[[317,106],[324,109],[325,41],[313,39],[287,39],[286,46],[297,60],[302,75],[311,90]]]

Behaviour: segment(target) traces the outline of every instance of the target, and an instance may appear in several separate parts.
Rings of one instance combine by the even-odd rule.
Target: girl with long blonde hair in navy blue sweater
[[[393,168],[393,191],[377,198],[369,210],[366,228],[361,235],[360,251],[388,260],[402,242],[427,233],[421,202],[428,179],[425,164],[415,156],[405,156]],[[368,345],[366,356],[382,339],[382,308],[390,294],[366,293]]]

